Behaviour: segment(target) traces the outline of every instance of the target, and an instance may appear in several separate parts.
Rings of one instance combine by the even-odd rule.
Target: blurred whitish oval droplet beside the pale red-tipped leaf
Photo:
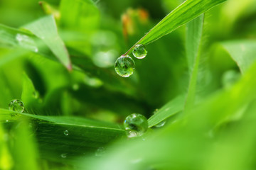
[[[38,48],[36,47],[36,43],[32,38],[29,38],[28,35],[17,34],[16,40],[18,41],[18,45],[24,47],[33,52],[38,52]]]

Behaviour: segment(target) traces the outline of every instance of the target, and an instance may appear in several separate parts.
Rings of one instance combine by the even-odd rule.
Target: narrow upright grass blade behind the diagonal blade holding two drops
[[[201,60],[201,39],[203,35],[204,14],[194,19],[187,25],[186,36],[186,56],[188,69],[191,72],[188,84],[188,94],[186,97],[185,111],[191,108],[196,98],[196,83],[198,80],[198,69]]]

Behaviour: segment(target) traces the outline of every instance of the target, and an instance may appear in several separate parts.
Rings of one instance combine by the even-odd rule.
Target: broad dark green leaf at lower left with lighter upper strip
[[[16,113],[0,109],[0,120],[17,120],[28,118],[36,129],[36,138],[41,156],[56,162],[66,154],[72,161],[75,157],[95,152],[110,142],[125,135],[124,130],[117,124],[100,122],[77,117],[43,116],[27,113]],[[66,134],[64,132],[67,131]],[[54,149],[52,149],[54,148]],[[72,149],[71,149],[72,148]]]

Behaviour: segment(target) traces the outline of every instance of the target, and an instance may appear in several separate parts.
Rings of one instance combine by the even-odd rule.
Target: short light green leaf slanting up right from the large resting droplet
[[[166,103],[165,106],[160,108],[157,113],[149,118],[149,128],[157,125],[158,123],[161,123],[161,121],[165,120],[166,118],[169,118],[170,116],[182,111],[184,107],[184,102],[185,96],[178,96],[173,100],[169,101],[169,103]]]

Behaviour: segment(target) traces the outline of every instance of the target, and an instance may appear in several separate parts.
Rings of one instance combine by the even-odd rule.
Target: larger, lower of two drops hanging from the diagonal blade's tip
[[[122,55],[114,64],[114,70],[121,77],[129,77],[134,73],[135,62],[129,55]]]

